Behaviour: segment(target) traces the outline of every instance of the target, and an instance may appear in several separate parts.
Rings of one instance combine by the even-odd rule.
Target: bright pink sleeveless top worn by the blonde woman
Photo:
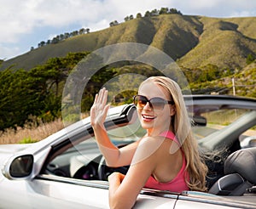
[[[179,144],[174,133],[170,131],[161,133],[160,136],[170,138],[171,140]],[[178,193],[182,192],[183,190],[189,190],[189,187],[185,182],[185,178],[189,180],[189,172],[185,171],[185,167],[186,167],[186,160],[183,155],[183,166],[180,169],[180,171],[177,173],[177,176],[172,179],[172,181],[166,182],[166,183],[160,183],[156,179],[154,179],[153,176],[150,176],[144,187],[148,189],[168,190],[168,191],[178,192]]]

